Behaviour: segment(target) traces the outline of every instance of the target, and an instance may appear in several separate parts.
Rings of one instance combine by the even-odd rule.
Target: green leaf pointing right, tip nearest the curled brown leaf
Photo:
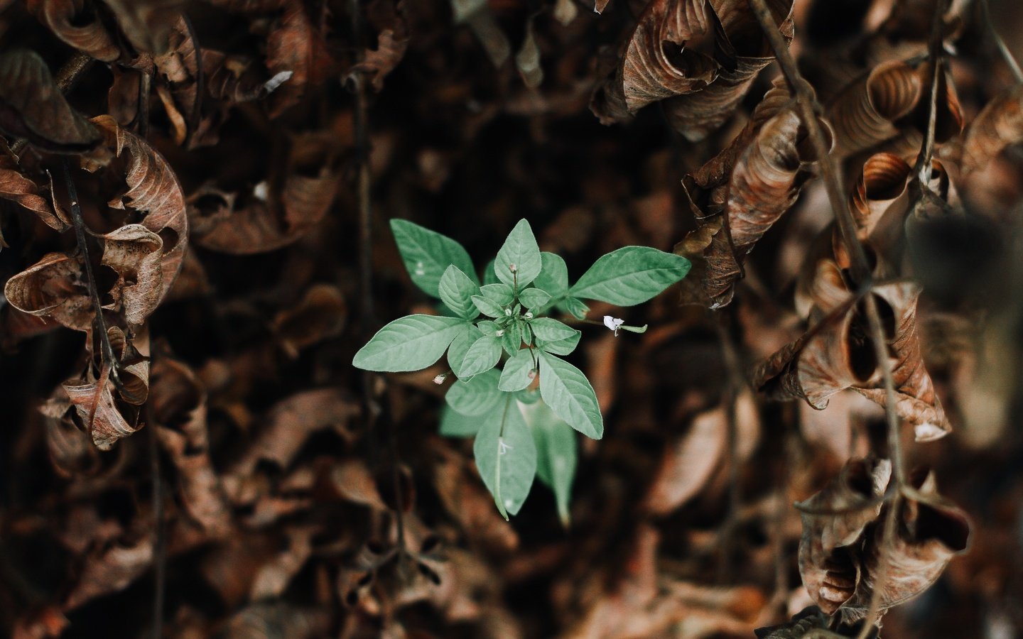
[[[681,256],[650,246],[624,246],[594,262],[570,292],[576,298],[633,306],[685,277],[691,266]]]

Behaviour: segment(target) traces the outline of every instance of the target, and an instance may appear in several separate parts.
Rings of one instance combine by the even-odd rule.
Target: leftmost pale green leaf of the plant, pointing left
[[[465,320],[457,317],[407,315],[376,331],[355,354],[352,365],[391,373],[420,370],[444,355],[464,325]]]

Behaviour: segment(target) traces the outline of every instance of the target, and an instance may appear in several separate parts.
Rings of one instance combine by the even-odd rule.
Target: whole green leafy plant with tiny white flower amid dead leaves
[[[458,380],[448,389],[441,433],[476,437],[477,468],[504,518],[519,511],[539,476],[553,490],[567,523],[576,467],[571,428],[598,440],[604,418],[586,375],[562,359],[575,350],[581,332],[546,315],[557,311],[604,324],[616,335],[643,332],[646,326],[626,326],[611,316],[587,320],[582,299],[616,306],[647,302],[685,277],[688,260],[625,246],[599,258],[570,286],[565,261],[541,253],[529,223],[521,220],[485,269],[481,285],[455,240],[405,220],[392,220],[391,229],[412,282],[453,315],[396,319],[352,363],[382,372],[420,370],[447,351]],[[502,358],[503,368],[497,369]]]

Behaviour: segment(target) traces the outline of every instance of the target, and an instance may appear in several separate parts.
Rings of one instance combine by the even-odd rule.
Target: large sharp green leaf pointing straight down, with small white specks
[[[481,424],[473,445],[476,467],[494,496],[505,519],[516,514],[529,496],[536,475],[536,444],[510,395],[501,407],[499,420]]]

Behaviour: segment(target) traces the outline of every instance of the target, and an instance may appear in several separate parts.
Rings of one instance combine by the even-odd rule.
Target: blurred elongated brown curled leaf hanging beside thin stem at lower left
[[[152,365],[153,426],[178,471],[185,510],[212,537],[230,530],[230,507],[210,460],[206,390],[187,366],[167,358]]]

